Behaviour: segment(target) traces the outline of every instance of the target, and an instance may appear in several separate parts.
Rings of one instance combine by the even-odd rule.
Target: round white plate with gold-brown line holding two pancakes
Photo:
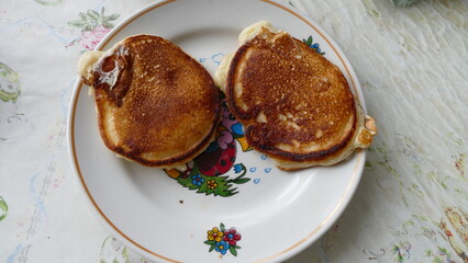
[[[98,49],[134,34],[159,35],[213,73],[223,54],[236,49],[241,30],[259,20],[268,20],[300,39],[312,36],[312,44],[320,45],[324,56],[342,69],[353,92],[363,98],[352,66],[332,38],[304,14],[270,0],[159,1],[118,25]],[[242,139],[233,138],[234,133],[224,142],[234,145],[237,155],[224,151],[223,158],[230,167],[234,157],[237,165],[218,176],[208,176],[210,172],[204,171],[208,175],[171,178],[163,170],[118,159],[104,147],[94,102],[87,92],[78,81],[69,115],[71,162],[85,196],[115,237],[158,262],[286,260],[334,224],[361,176],[365,151],[332,168],[282,172],[265,156],[244,152]],[[230,125],[225,123],[224,133]],[[200,163],[197,165],[202,167]],[[231,185],[229,190],[220,190],[223,179]],[[209,183],[214,186],[211,180],[218,183],[219,195],[207,187]],[[197,182],[201,190],[197,190]],[[241,235],[237,247],[231,245],[235,249],[223,251],[221,242],[209,242],[208,231],[221,225],[234,227]]]

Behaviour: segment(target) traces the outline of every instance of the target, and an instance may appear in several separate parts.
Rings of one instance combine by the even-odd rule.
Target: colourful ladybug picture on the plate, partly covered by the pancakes
[[[193,161],[186,164],[186,171],[171,169],[165,172],[179,184],[196,190],[197,193],[227,197],[238,193],[237,187],[233,187],[234,184],[250,181],[249,178],[245,178],[247,168],[244,163],[235,162],[237,144],[244,152],[252,148],[244,138],[241,123],[230,113],[224,99],[222,107],[223,116],[216,129],[216,139]],[[230,171],[234,175],[229,175]]]

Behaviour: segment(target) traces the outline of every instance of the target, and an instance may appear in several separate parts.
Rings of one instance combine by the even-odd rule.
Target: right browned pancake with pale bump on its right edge
[[[261,27],[237,49],[224,91],[247,141],[283,170],[341,162],[377,132],[342,71],[283,31]]]

